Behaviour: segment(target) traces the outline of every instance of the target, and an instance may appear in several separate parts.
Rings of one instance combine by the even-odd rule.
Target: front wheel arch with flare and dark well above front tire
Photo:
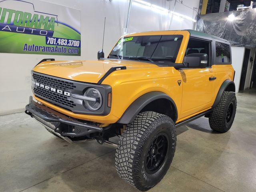
[[[163,92],[153,91],[140,96],[132,102],[118,120],[118,123],[129,124],[137,114],[144,110],[151,110],[170,116],[174,123],[178,118],[178,110],[174,100]]]

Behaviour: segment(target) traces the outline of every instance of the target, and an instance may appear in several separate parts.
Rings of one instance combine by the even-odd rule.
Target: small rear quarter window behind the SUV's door
[[[230,62],[230,46],[229,44],[215,42],[216,46],[216,62],[229,63]]]

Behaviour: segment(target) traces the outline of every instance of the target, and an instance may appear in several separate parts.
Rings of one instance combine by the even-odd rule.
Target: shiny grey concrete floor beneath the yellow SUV
[[[255,192],[256,90],[237,94],[231,130],[207,118],[177,128],[174,160],[150,192]],[[1,192],[134,192],[116,173],[115,149],[95,140],[68,144],[24,113],[0,116]]]

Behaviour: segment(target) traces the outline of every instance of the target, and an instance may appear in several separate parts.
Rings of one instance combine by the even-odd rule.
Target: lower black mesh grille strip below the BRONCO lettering
[[[34,87],[34,93],[41,97],[41,98],[46,98],[48,100],[54,101],[58,104],[62,104],[64,106],[70,107],[70,108],[74,108],[76,106],[76,104],[74,104],[73,101],[69,100],[68,97],[55,93],[55,92],[51,92],[48,91],[46,89],[43,89],[41,87]]]

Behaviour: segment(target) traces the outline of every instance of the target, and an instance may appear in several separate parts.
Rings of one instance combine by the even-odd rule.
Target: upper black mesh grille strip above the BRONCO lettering
[[[44,75],[35,74],[35,73],[32,74],[32,76],[34,80],[36,80],[36,82],[42,83],[44,85],[51,86],[60,90],[70,91],[76,88],[76,86],[74,86],[74,83],[67,82],[65,80],[59,80],[54,77],[46,77]]]

